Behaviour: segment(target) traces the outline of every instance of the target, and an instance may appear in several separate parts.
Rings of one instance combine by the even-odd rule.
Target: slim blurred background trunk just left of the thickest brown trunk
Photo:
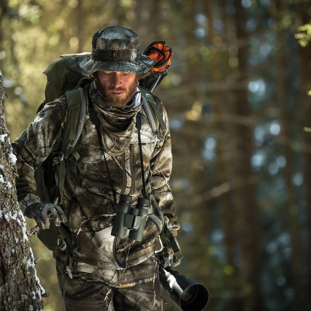
[[[214,21],[214,11],[215,7],[213,6],[215,2],[207,1],[205,2],[205,11],[206,16],[208,18],[208,37],[210,44],[212,45],[216,41],[216,34],[213,27]],[[221,6],[225,6],[222,2]],[[226,16],[225,13],[222,11],[223,23],[224,23],[224,30],[222,39],[226,39]],[[221,83],[224,79],[228,66],[224,66],[223,63],[228,63],[227,55],[225,53],[215,53],[213,55],[213,62],[211,63],[211,82]],[[225,68],[225,69],[222,69]],[[216,72],[221,73],[215,74]],[[223,121],[219,120],[219,116],[223,113],[231,112],[230,106],[228,107],[225,95],[223,94],[220,89],[216,89],[215,91],[211,91],[211,99],[214,106],[214,116],[215,122],[218,132],[220,133],[217,136],[217,144],[216,144],[216,165],[217,165],[217,180],[218,185],[222,185],[228,182],[228,167],[227,167],[227,159],[225,159],[225,154],[228,152],[228,139],[227,135],[222,135],[221,133],[230,132],[228,129],[228,125],[225,124]],[[209,91],[210,93],[210,91]],[[225,105],[224,105],[225,103]],[[229,160],[230,161],[230,160]],[[238,277],[238,267],[234,263],[234,248],[236,246],[236,242],[234,239],[234,213],[232,211],[232,205],[230,200],[230,193],[225,192],[218,198],[218,206],[220,209],[220,217],[222,222],[222,227],[224,230],[224,245],[226,249],[227,255],[227,262],[230,267],[232,267],[232,272],[229,274],[228,282],[226,284],[229,285],[230,288],[230,304],[227,306],[228,311],[236,311],[241,310],[241,299],[237,297],[235,293],[239,291],[239,282],[237,282]]]

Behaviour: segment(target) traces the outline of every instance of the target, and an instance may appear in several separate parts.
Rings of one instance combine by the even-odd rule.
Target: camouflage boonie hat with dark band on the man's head
[[[141,52],[141,39],[131,29],[110,26],[95,32],[92,53],[77,56],[81,71],[91,74],[98,70],[111,70],[142,74],[156,63]]]

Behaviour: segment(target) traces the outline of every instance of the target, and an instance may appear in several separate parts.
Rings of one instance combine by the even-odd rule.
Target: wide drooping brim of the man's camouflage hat
[[[91,53],[77,55],[76,62],[80,70],[90,75],[98,70],[131,72],[137,75],[147,72],[156,63],[156,60],[142,54],[136,60],[123,62],[100,62],[91,57]]]

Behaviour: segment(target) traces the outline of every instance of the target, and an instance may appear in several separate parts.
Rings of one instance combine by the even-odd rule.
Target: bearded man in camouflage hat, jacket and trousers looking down
[[[65,162],[62,204],[39,200],[34,171],[62,145],[67,98],[46,104],[12,144],[21,210],[44,231],[50,219],[70,231],[71,269],[67,266],[63,272],[67,257],[61,251],[55,254],[66,310],[161,309],[158,260],[163,264],[163,256],[155,254],[156,239],[165,218],[174,237],[179,224],[169,186],[172,155],[167,114],[157,99],[166,128],[154,132],[146,100],[137,87],[155,63],[141,53],[140,45],[134,31],[111,26],[93,35],[91,54],[76,58],[91,83],[83,88],[86,117],[74,147],[80,158]],[[90,107],[99,121],[98,131]],[[149,200],[142,241],[129,239],[128,234],[124,238],[111,235],[115,201],[122,194],[132,196],[132,206],[139,197]],[[171,258],[170,263],[174,266],[179,261]]]

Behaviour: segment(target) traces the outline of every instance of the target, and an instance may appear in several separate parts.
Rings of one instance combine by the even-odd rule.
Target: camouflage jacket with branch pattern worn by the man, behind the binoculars
[[[100,120],[102,143],[109,165],[117,199],[120,194],[133,196],[132,205],[142,196],[142,175],[136,124],[139,107],[122,111],[106,104],[93,83],[86,86]],[[87,98],[88,96],[86,96]],[[111,236],[116,209],[100,149],[99,138],[91,123],[86,103],[86,118],[82,134],[75,146],[80,159],[67,160],[63,209],[66,225],[75,241],[72,257],[100,267],[121,269],[136,265],[154,253],[164,216],[176,237],[179,224],[169,185],[172,169],[171,140],[168,118],[162,103],[158,103],[167,130],[160,130],[160,140],[152,133],[142,109],[142,146],[146,193],[149,198],[148,216],[142,241]],[[44,106],[35,121],[13,142],[19,177],[16,179],[21,210],[39,202],[34,170],[62,143],[66,126],[67,100],[61,97]]]

